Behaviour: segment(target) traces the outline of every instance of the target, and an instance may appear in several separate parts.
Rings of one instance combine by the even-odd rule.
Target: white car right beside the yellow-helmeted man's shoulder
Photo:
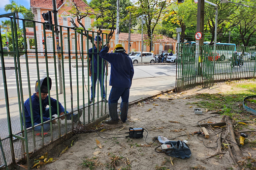
[[[154,53],[142,52],[142,55],[143,63],[155,63]],[[141,52],[129,57],[131,58],[133,64],[141,63]]]

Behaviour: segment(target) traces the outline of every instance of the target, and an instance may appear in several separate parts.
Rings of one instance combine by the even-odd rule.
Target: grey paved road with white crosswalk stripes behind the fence
[[[44,63],[44,59],[39,59],[39,74],[40,78],[46,77],[46,65]],[[52,61],[52,62],[51,62]],[[28,77],[27,77],[27,69],[24,58],[21,58],[21,75],[22,75],[22,88],[23,88],[23,99],[24,101],[29,97],[28,91]],[[55,82],[55,71],[53,60],[50,59],[49,67],[49,76],[52,78],[52,90],[51,96],[56,98],[56,82]],[[71,65],[76,65],[75,60],[71,61]],[[5,60],[6,67],[13,67],[12,60]],[[31,59],[29,61],[29,73],[30,73],[30,81],[31,81],[31,91],[34,92],[35,81],[37,80],[37,70],[35,59]],[[81,64],[81,63],[80,63]],[[78,63],[79,65],[79,63]],[[78,105],[82,105],[82,67],[78,67],[78,74],[76,72],[76,67],[71,67],[71,77],[72,77],[72,88],[73,88],[73,107],[77,107]],[[110,71],[111,67],[109,67]],[[88,76],[87,76],[87,67],[84,67],[85,70],[85,84],[88,89]],[[58,74],[58,71],[57,71]],[[69,67],[68,63],[64,62],[64,75],[65,75],[65,89],[66,89],[66,107],[67,110],[70,111],[70,84],[69,84]],[[79,84],[79,99],[77,100],[77,90],[76,90],[76,76],[78,75],[78,84]],[[148,95],[152,95],[164,89],[174,88],[175,87],[175,75],[176,75],[176,65],[175,64],[140,64],[134,65],[134,77],[132,86],[130,89],[130,98],[129,101],[134,101],[140,99],[141,97],[145,97]],[[58,77],[58,75],[57,75]],[[109,76],[108,76],[109,79]],[[6,70],[6,81],[8,87],[9,94],[9,104],[10,104],[10,113],[11,113],[11,123],[12,123],[12,131],[13,133],[17,133],[20,131],[20,115],[19,115],[19,105],[17,99],[17,86],[16,86],[16,76],[15,70],[10,69]],[[109,80],[107,80],[109,82]],[[89,84],[91,80],[89,79]],[[58,82],[57,82],[58,85]],[[111,86],[107,85],[107,94],[109,94]],[[96,91],[97,93],[97,91]],[[6,105],[5,105],[5,96],[4,96],[4,88],[3,88],[3,78],[2,74],[0,74],[0,136],[6,137],[8,135],[8,127],[7,127],[7,116],[6,116]],[[100,90],[99,90],[100,94]],[[88,97],[87,91],[85,89],[85,106],[88,105]],[[61,103],[64,103],[63,94],[59,94],[59,100]],[[121,101],[119,101],[121,102]]]

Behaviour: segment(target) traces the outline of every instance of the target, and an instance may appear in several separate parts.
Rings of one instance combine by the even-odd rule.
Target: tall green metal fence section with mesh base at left
[[[102,100],[102,91],[100,91],[98,80],[96,99],[93,100],[92,104],[89,104],[91,93],[89,89],[91,84],[90,68],[85,66],[89,62],[89,49],[94,46],[90,36],[100,35],[103,42],[107,42],[108,35],[106,33],[99,34],[94,31],[55,25],[51,25],[52,30],[46,30],[45,23],[24,19],[18,19],[22,26],[17,28],[15,13],[0,15],[0,18],[11,22],[9,52],[3,51],[4,37],[0,36],[2,70],[0,80],[3,80],[0,86],[0,94],[2,94],[0,96],[0,136],[2,137],[1,143],[3,146],[0,165],[4,163],[7,163],[7,165],[26,164],[30,169],[32,167],[30,158],[47,152],[47,147],[45,147],[47,145],[60,144],[75,133],[85,133],[123,125],[101,124],[94,127],[95,124],[109,117],[107,101]],[[32,23],[33,28],[26,28],[28,22]],[[59,29],[59,36],[56,36],[55,27]],[[32,33],[29,31],[30,29]],[[44,50],[41,45],[42,38],[44,40]],[[34,49],[29,48],[30,39],[33,41]],[[94,62],[94,54],[97,54],[98,60],[99,51],[93,50],[92,62]],[[6,55],[10,55],[10,58],[4,57]],[[64,57],[67,57],[67,59],[64,59]],[[104,65],[103,62],[102,60],[102,63],[97,63],[97,77],[100,73],[103,75],[103,69],[98,69],[99,64]],[[56,118],[52,117],[51,104],[49,104],[50,120],[44,122],[41,100],[39,100],[41,123],[35,125],[32,118],[32,127],[26,128],[23,123],[26,122],[25,114],[22,114],[25,112],[24,102],[28,99],[32,103],[31,96],[34,93],[35,82],[40,82],[40,79],[45,77],[47,77],[48,96],[56,99],[57,103],[62,103],[65,110],[64,117],[60,117],[58,105],[58,115],[55,115]],[[97,79],[97,77],[93,76],[93,79]],[[52,79],[51,90],[49,78]],[[103,82],[103,76],[101,81]],[[107,94],[106,82],[107,75],[103,83]],[[60,89],[61,84],[63,84],[63,92]],[[40,91],[39,87],[39,98],[42,98]],[[51,103],[50,99],[49,103]],[[32,109],[32,105],[30,105],[31,113]],[[66,111],[69,113],[66,113]],[[78,121],[74,121],[73,114],[78,114],[78,117],[81,115]],[[71,120],[67,118],[69,115],[71,115]],[[54,124],[54,121],[57,123]],[[50,124],[50,130],[47,134],[44,130],[45,124]],[[40,130],[36,131],[38,127]]]

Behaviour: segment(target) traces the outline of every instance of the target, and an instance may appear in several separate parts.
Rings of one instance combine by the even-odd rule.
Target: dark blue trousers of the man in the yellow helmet
[[[118,121],[118,113],[117,113],[117,104],[118,100],[121,97],[122,102],[120,106],[120,118],[123,122],[126,122],[128,115],[128,105],[129,105],[129,87],[114,87],[112,86],[109,98],[108,98],[108,109],[109,115],[112,120]]]

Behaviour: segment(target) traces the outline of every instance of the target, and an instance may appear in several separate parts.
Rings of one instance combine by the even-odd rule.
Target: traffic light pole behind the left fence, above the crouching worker
[[[54,25],[58,25],[57,15],[58,15],[58,11],[56,7],[56,0],[53,0]],[[62,55],[61,55],[61,46],[60,46],[60,40],[59,40],[59,30],[57,26],[55,26],[55,34],[56,34],[56,44],[57,44],[57,53],[58,53],[59,85],[60,85],[60,93],[62,94],[63,93]]]

